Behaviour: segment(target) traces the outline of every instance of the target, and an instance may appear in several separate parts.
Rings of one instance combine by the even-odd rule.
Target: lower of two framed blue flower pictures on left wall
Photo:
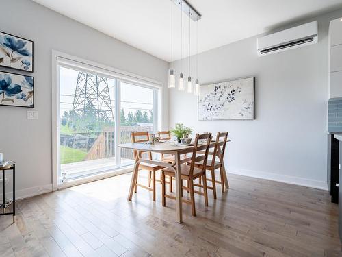
[[[34,108],[34,77],[0,71],[0,106]]]

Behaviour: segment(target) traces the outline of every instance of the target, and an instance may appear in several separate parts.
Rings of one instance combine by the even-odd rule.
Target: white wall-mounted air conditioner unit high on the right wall
[[[259,56],[317,43],[317,21],[258,38]]]

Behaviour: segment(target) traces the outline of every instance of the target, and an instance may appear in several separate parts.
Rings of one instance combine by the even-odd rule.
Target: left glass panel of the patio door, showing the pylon
[[[60,175],[116,167],[116,79],[60,66]]]

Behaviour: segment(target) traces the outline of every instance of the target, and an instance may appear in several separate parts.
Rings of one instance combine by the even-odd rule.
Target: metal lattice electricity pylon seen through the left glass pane
[[[98,120],[114,121],[107,77],[79,71],[73,111],[80,117],[92,113]]]

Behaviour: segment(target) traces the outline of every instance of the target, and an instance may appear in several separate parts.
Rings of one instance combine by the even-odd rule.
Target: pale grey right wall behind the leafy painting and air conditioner
[[[253,37],[201,53],[201,83],[256,77],[256,119],[198,121],[196,97],[169,90],[170,127],[185,123],[196,132],[228,131],[230,173],[327,188],[328,24],[339,16],[342,10],[287,26],[318,20],[316,45],[259,58]]]

